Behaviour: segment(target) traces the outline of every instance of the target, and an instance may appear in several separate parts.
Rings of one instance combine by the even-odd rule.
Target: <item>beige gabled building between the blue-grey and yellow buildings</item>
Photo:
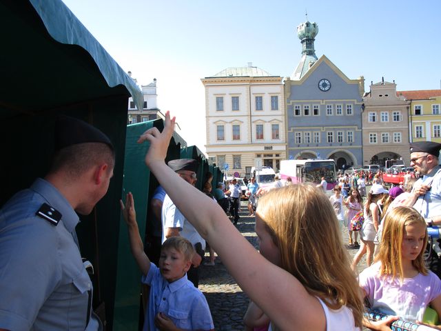
[[[363,98],[362,112],[363,163],[384,166],[389,159],[410,164],[409,101],[397,95],[396,83],[371,83]]]

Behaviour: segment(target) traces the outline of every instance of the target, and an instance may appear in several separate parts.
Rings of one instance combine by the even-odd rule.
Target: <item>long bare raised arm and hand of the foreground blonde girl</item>
[[[326,330],[325,313],[294,276],[262,257],[238,232],[218,204],[178,177],[165,164],[174,118],[165,114],[163,132],[151,128],[138,142],[150,142],[147,167],[186,219],[222,258],[240,288],[280,330]]]

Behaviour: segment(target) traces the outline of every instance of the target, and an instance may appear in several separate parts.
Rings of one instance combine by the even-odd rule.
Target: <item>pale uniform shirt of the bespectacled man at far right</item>
[[[431,218],[441,214],[441,167],[440,165],[432,169],[429,174],[418,179],[413,187],[424,184],[431,186],[431,189],[424,195],[420,195],[413,205],[422,217]]]

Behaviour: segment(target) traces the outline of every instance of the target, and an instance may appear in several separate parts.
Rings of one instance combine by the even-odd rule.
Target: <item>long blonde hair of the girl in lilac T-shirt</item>
[[[411,207],[400,206],[390,210],[383,221],[382,237],[380,242],[380,250],[376,257],[376,261],[381,262],[380,274],[391,275],[392,278],[400,277],[403,280],[402,269],[402,237],[406,225],[422,224],[426,226],[424,217]],[[427,231],[422,244],[422,250],[418,257],[412,261],[413,267],[418,272],[426,275],[427,268],[424,265],[422,255],[427,245]]]

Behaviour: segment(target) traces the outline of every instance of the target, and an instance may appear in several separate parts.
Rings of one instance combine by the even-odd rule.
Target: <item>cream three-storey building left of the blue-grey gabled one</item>
[[[283,78],[249,63],[201,81],[209,158],[228,175],[249,176],[256,159],[278,170],[286,159]]]

